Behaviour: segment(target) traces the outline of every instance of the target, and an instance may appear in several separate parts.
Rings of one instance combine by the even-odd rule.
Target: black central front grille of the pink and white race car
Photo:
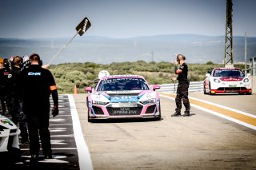
[[[142,106],[138,107],[106,107],[110,116],[121,116],[121,115],[140,115],[142,113]]]

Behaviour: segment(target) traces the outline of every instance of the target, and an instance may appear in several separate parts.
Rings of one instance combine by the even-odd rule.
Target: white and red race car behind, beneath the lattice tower
[[[203,82],[205,94],[239,93],[251,94],[250,74],[245,74],[238,68],[216,68],[206,73]]]

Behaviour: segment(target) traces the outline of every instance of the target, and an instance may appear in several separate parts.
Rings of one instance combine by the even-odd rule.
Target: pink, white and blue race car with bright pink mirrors
[[[88,121],[115,118],[161,119],[160,98],[146,79],[138,75],[104,76],[95,88],[87,87]]]

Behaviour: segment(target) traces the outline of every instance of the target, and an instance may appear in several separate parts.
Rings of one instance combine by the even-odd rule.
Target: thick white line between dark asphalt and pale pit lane
[[[90,159],[90,152],[86,145],[86,141],[83,138],[82,129],[78,117],[78,111],[75,106],[74,97],[68,94],[70,101],[70,110],[73,121],[74,139],[78,147],[78,160],[80,169],[93,169],[93,165]]]

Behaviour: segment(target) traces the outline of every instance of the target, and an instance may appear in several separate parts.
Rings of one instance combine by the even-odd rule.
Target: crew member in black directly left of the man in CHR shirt
[[[7,95],[6,103],[8,106],[9,113],[12,117],[14,124],[18,125],[21,130],[22,144],[29,144],[26,116],[22,110],[22,93],[20,89],[19,79],[22,69],[22,57],[16,56],[13,59],[13,66],[10,70],[10,75],[7,80]]]

